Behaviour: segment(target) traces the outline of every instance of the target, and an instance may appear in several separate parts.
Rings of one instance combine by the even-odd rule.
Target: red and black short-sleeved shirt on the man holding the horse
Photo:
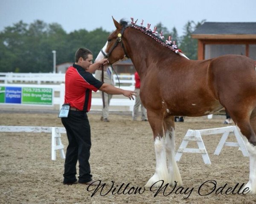
[[[65,75],[65,102],[70,107],[88,112],[91,107],[92,91],[98,91],[103,82],[95,79],[92,74],[81,66],[73,64]]]

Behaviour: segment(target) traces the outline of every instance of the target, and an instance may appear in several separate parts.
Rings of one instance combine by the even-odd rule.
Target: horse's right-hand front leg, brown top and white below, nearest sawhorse
[[[168,156],[168,172],[169,172],[169,183],[174,186],[175,181],[177,185],[182,185],[182,180],[180,176],[180,171],[177,166],[177,162],[175,159],[175,123],[174,116],[169,116],[164,118],[163,127],[166,134],[165,137],[165,148],[166,154]]]

